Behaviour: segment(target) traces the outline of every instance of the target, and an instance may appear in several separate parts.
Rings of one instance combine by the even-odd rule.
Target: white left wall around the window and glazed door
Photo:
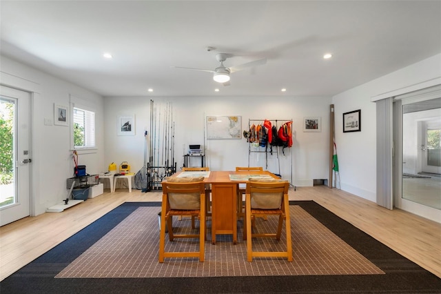
[[[39,215],[68,196],[66,179],[73,176],[70,151],[70,127],[54,126],[54,104],[69,106],[70,95],[92,101],[96,106],[96,146],[94,154],[79,155],[79,163],[89,174],[103,166],[103,98],[94,92],[63,81],[0,56],[1,81],[4,86],[33,92],[31,110],[31,213]],[[52,121],[51,126],[44,119]]]

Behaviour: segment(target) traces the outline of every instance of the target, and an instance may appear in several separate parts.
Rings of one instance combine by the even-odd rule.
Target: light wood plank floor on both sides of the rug
[[[107,190],[108,191],[108,190]],[[441,277],[441,224],[403,210],[387,210],[360,197],[326,186],[290,190],[291,200],[314,200],[342,219]],[[161,201],[161,192],[126,189],[88,199],[63,213],[26,217],[0,228],[0,278],[74,235],[123,202]]]

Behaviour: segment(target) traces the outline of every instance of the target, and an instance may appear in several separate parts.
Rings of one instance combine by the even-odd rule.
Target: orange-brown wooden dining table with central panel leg
[[[172,175],[177,177],[181,173]],[[235,179],[230,179],[236,177]],[[234,176],[236,175],[236,176]],[[212,188],[212,244],[216,244],[216,235],[233,235],[233,244],[237,243],[237,197],[238,185],[248,182],[249,177],[272,177],[276,175],[264,171],[210,171],[204,178]]]

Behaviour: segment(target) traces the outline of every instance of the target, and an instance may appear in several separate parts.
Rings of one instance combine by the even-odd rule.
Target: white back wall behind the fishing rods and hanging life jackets
[[[285,156],[280,148],[280,174],[290,179],[292,166],[296,186],[311,186],[313,179],[328,177],[331,97],[105,97],[107,165],[112,161],[117,165],[128,161],[134,173],[143,166],[143,133],[150,130],[150,99],[154,100],[157,109],[160,106],[165,108],[167,103],[173,106],[178,170],[183,166],[183,154],[187,153],[189,144],[205,145],[206,165],[211,170],[234,170],[236,166],[247,166],[248,144],[245,138],[206,140],[204,135],[207,115],[238,115],[242,117],[243,130],[248,129],[249,119],[262,119],[262,124],[263,119],[293,119],[294,146],[290,150],[285,149]],[[118,136],[117,116],[133,114],[136,117],[136,134]],[[303,133],[303,117],[321,117],[322,131]],[[252,153],[251,159],[250,165],[266,167],[265,154]],[[269,155],[268,163],[268,170],[279,173],[276,155]],[[197,162],[192,161],[192,164],[196,166]]]

